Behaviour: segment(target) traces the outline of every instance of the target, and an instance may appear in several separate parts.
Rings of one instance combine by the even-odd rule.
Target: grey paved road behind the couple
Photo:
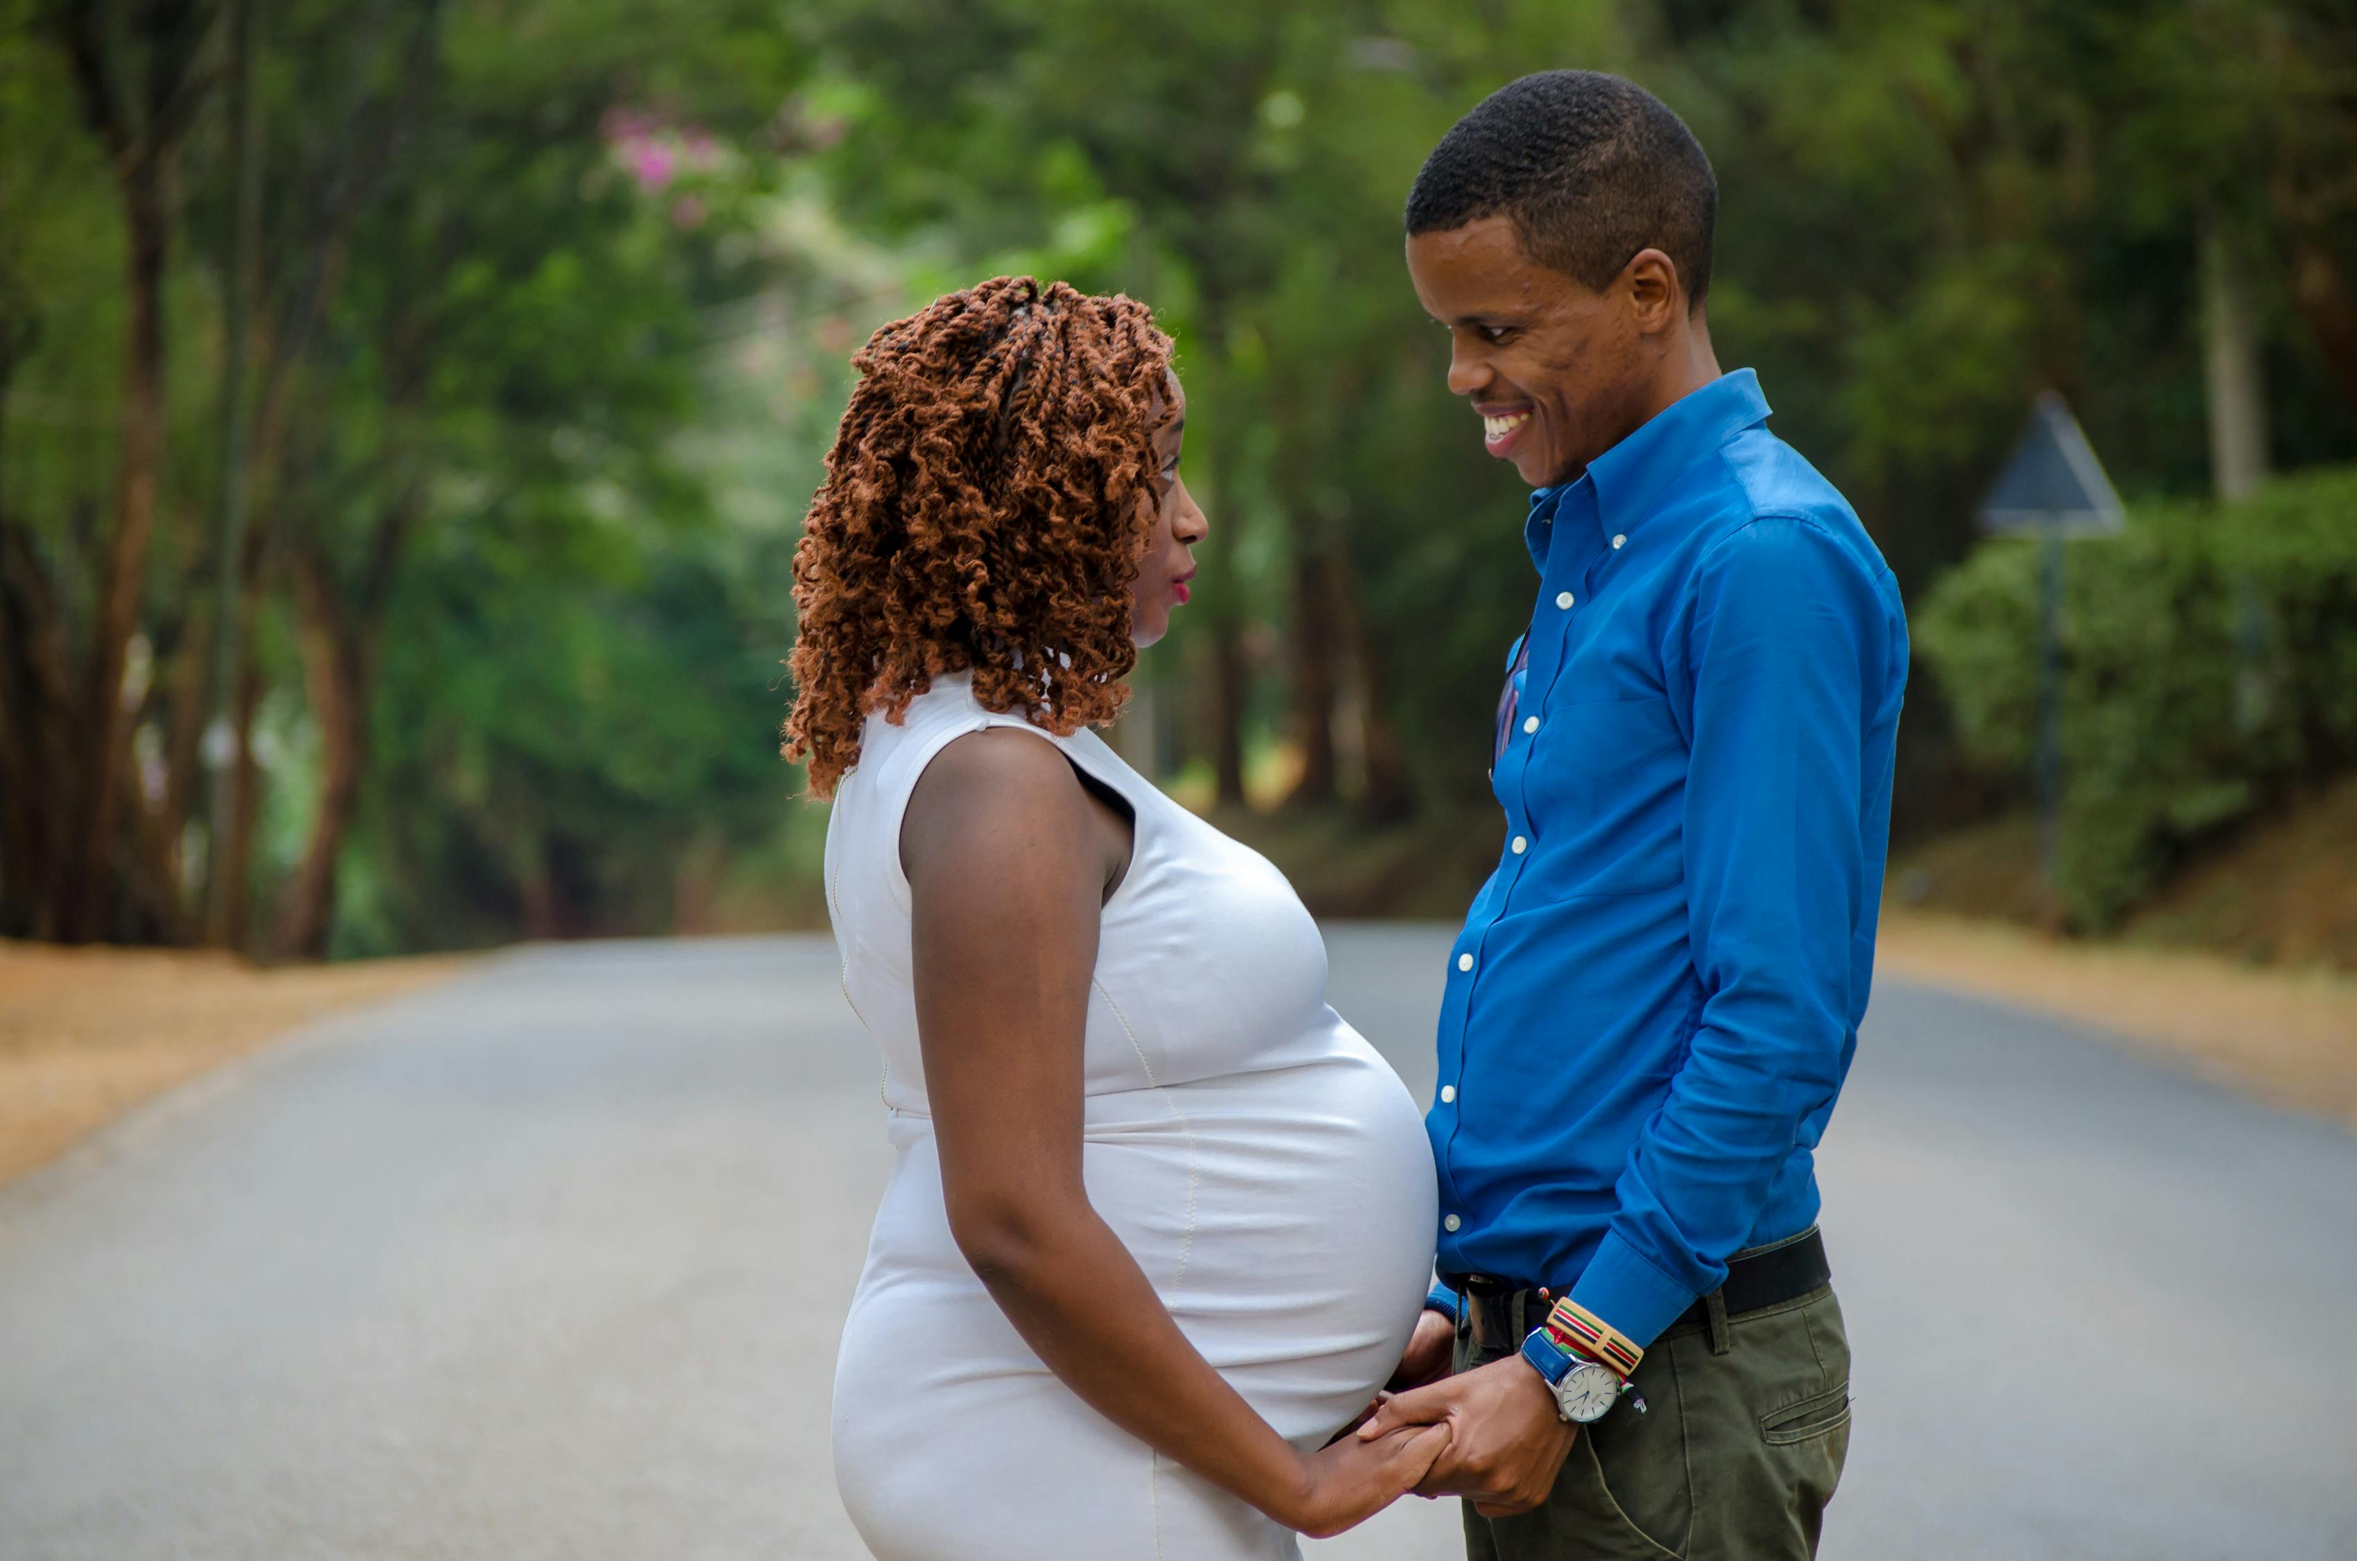
[[[1445,941],[1334,934],[1419,1094]],[[0,1193],[0,1556],[860,1556],[825,1396],[874,1080],[825,941],[608,943],[167,1099]],[[1824,1181],[1831,1561],[2357,1556],[2357,1139],[1886,983]]]

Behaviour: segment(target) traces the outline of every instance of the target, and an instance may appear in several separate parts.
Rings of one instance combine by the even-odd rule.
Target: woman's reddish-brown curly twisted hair
[[[1056,733],[1113,719],[1169,361],[1146,304],[1028,276],[867,337],[794,549],[785,757],[816,795],[943,672]]]

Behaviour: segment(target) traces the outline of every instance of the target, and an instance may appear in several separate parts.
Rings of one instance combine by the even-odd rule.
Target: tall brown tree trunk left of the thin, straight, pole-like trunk
[[[59,931],[68,943],[104,936],[115,891],[115,828],[123,804],[130,712],[123,710],[123,667],[139,627],[139,587],[146,580],[148,538],[156,531],[156,481],[163,469],[163,269],[165,198],[158,158],[123,172],[123,217],[130,241],[130,328],[123,363],[123,448],[115,457],[115,523],[99,575],[90,632],[90,677],[82,691],[87,733],[80,828]]]

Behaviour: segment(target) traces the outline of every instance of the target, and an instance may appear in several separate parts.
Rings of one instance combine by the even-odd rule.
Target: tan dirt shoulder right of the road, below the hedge
[[[2357,1127],[2357,979],[2088,946],[1886,905],[1879,974],[2041,1009]]]

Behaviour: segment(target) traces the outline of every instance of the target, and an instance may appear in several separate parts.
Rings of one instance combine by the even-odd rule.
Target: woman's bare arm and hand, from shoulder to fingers
[[[1301,1457],[1089,1205],[1082,1035],[1127,839],[1065,757],[1004,729],[950,743],[910,797],[900,861],[950,1233],[1023,1339],[1105,1420],[1303,1533],[1339,1533],[1414,1486],[1445,1429]]]

